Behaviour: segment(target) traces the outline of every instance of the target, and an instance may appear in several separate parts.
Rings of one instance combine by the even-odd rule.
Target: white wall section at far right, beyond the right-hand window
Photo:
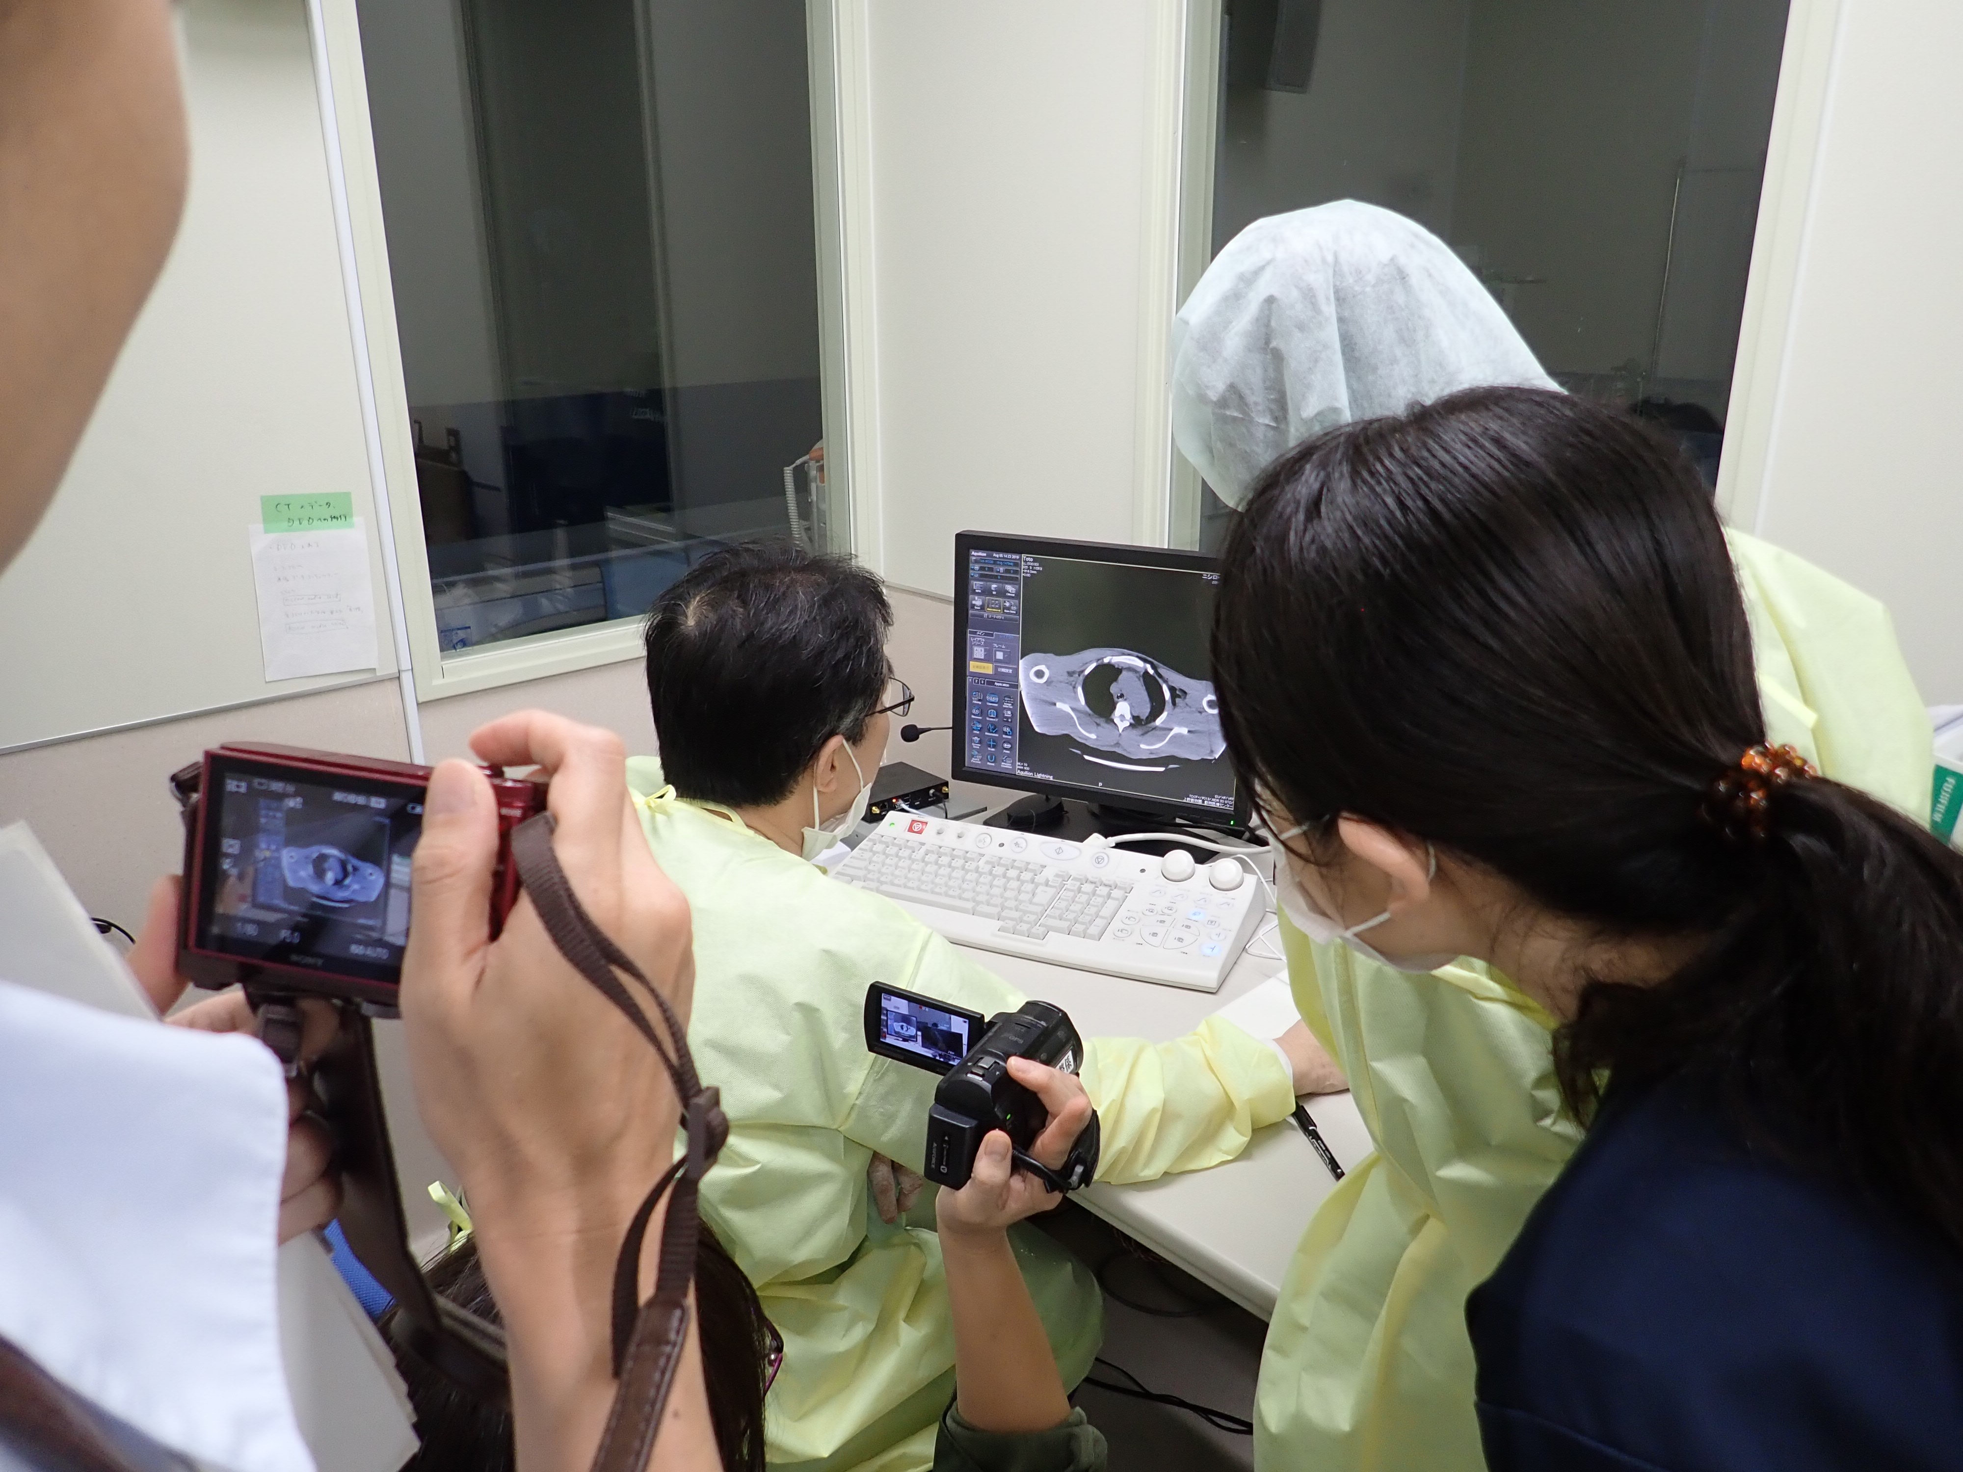
[[[1747,524],[1884,599],[1963,701],[1963,6],[1843,0],[1771,447]]]

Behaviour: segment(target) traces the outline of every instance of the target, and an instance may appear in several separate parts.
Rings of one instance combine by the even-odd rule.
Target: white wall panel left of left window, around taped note
[[[0,750],[269,685],[247,524],[351,493],[393,671],[302,0],[186,0],[190,202],[69,475],[0,575]],[[6,793],[0,793],[4,811]]]

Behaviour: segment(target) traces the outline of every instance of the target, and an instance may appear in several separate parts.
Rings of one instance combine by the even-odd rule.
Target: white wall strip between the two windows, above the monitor
[[[1131,542],[1141,302],[1164,4],[868,0],[874,338],[856,538],[891,581],[952,595],[962,528]],[[1172,98],[1176,104],[1176,96]],[[866,247],[866,241],[860,241]],[[848,245],[848,249],[852,249]],[[1156,345],[1156,343],[1152,343]],[[1164,487],[1158,487],[1164,495]]]

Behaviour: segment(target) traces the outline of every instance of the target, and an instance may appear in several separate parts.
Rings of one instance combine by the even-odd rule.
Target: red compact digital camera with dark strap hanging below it
[[[395,1297],[398,1348],[467,1390],[506,1395],[504,1335],[440,1297],[408,1246],[373,1017],[395,1017],[408,946],[408,881],[430,767],[296,746],[220,746],[171,775],[185,811],[177,968],[200,987],[243,985],[259,1036],[292,1066],[302,997],[334,1003],[312,1064],[334,1130],[340,1223]],[[499,856],[491,934],[518,901],[510,834],[546,811],[544,783],[491,773]]]

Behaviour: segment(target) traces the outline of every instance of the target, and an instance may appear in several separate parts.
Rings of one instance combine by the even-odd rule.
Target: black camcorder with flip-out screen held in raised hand
[[[1029,1001],[983,1025],[982,1013],[875,981],[866,989],[866,1048],[940,1074],[934,1105],[927,1111],[925,1176],[936,1185],[958,1191],[968,1183],[989,1130],[1003,1130],[1017,1168],[1052,1191],[1076,1191],[1097,1174],[1097,1113],[1091,1111],[1064,1164],[1050,1170],[1029,1154],[1050,1115],[1031,1089],[1009,1078],[1011,1058],[1078,1072],[1084,1040],[1062,1007]]]

